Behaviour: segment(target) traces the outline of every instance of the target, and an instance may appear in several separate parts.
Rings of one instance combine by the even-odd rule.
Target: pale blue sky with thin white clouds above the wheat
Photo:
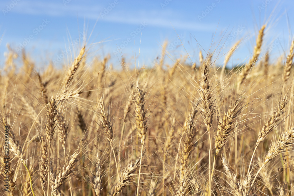
[[[248,61],[263,24],[262,55],[270,50],[271,60],[288,52],[293,37],[294,3],[286,0],[1,0],[0,8],[0,67],[7,43],[17,51],[24,47],[39,67],[50,60],[61,67],[86,36],[89,59],[110,54],[113,66],[120,68],[121,55],[129,63],[135,58],[139,66],[152,65],[165,40],[166,62],[188,53],[187,62],[198,64],[199,50],[205,56],[210,49],[221,64],[223,54],[242,39],[233,65]]]

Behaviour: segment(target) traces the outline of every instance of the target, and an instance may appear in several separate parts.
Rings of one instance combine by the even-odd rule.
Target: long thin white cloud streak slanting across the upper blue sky
[[[4,3],[1,3],[4,4]],[[3,5],[1,5],[3,6]],[[101,5],[76,5],[73,1],[66,6],[60,1],[56,2],[39,2],[39,1],[20,1],[14,8],[13,12],[19,14],[42,15],[53,17],[81,17],[90,20],[100,20],[121,24],[140,24],[145,22],[148,26],[156,26],[163,28],[175,28],[181,30],[192,31],[213,31],[216,29],[216,24],[200,24],[196,21],[187,21],[179,19],[181,13],[171,9],[166,10],[135,10],[129,13],[122,10],[119,6],[115,7],[115,11],[101,17],[100,14],[104,11],[104,6]],[[178,13],[175,14],[175,13]]]

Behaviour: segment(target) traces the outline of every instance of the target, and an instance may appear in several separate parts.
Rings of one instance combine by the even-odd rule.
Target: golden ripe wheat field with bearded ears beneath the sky
[[[210,50],[166,64],[90,60],[39,71],[8,46],[0,73],[1,195],[293,195],[294,41],[228,69]],[[21,62],[21,67],[16,65]],[[189,63],[190,62],[190,63]]]

